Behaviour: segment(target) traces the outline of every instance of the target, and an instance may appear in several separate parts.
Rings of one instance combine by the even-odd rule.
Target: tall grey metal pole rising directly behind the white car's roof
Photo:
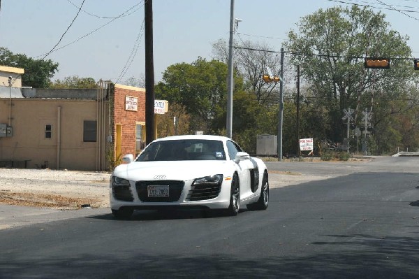
[[[227,78],[227,136],[233,136],[233,34],[234,0],[230,1],[230,40],[228,41],[228,78]]]

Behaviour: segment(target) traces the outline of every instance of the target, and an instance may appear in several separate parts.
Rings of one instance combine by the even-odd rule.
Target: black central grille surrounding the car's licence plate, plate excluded
[[[148,196],[147,186],[152,185],[168,185],[169,186],[169,196],[163,197],[150,197]],[[140,201],[160,201],[160,202],[173,202],[179,201],[180,195],[184,188],[184,181],[181,180],[152,180],[152,181],[138,181],[135,183],[135,187],[138,193],[138,199]]]

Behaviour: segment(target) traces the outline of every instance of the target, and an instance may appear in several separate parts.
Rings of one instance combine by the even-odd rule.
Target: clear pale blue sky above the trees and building
[[[381,9],[391,28],[410,37],[413,55],[419,56],[418,0],[342,0],[369,4]],[[59,41],[83,0],[1,0],[0,46],[14,53],[42,58]],[[346,5],[328,0],[235,0],[235,17],[242,22],[238,32],[243,40],[265,42],[274,50],[290,29],[295,29],[300,17],[319,8]],[[383,3],[397,9],[388,10]],[[74,4],[74,5],[73,5]],[[135,6],[137,5],[138,6]],[[68,29],[57,48],[47,58],[59,63],[55,78],[78,75],[95,80],[117,81],[124,71],[144,20],[143,0],[84,0],[82,11]],[[126,16],[117,17],[132,8]],[[172,64],[193,62],[199,56],[211,59],[212,43],[228,41],[230,0],[154,0],[154,73],[156,81]],[[411,17],[409,17],[410,15]],[[412,18],[415,17],[415,18]],[[106,24],[104,27],[104,24]],[[98,29],[101,27],[100,29]],[[97,31],[94,31],[98,29]],[[93,33],[91,33],[94,31]],[[83,36],[91,33],[89,36]],[[273,37],[273,38],[266,38]],[[238,38],[236,38],[238,40]],[[416,53],[415,53],[416,51]],[[135,51],[134,51],[135,52]],[[121,80],[139,78],[145,73],[144,36],[131,66]],[[128,63],[129,64],[129,63]]]

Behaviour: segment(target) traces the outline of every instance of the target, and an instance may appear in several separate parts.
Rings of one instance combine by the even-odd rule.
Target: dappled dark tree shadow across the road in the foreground
[[[329,241],[310,245],[336,245],[340,249],[286,257],[214,253],[204,247],[163,253],[135,246],[124,254],[80,253],[68,257],[6,259],[1,278],[418,278],[417,237],[353,234],[329,235]],[[339,238],[341,241],[336,241]],[[113,246],[112,246],[113,247]],[[269,253],[267,253],[269,254]],[[117,256],[117,257],[115,257]],[[29,277],[28,277],[29,278]]]

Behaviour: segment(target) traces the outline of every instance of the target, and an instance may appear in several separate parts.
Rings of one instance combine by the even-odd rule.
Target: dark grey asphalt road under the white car
[[[273,162],[334,176],[237,217],[106,210],[0,231],[0,278],[418,278],[419,158]],[[87,214],[87,213],[89,214]]]

